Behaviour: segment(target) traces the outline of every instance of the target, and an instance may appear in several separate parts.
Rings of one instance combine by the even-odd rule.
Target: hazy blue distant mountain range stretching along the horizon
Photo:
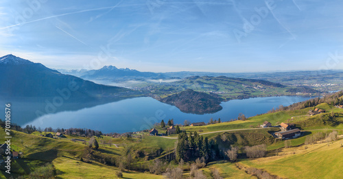
[[[289,72],[140,72],[129,68],[116,68],[115,66],[104,66],[99,70],[63,70],[59,72],[71,74],[82,79],[92,81],[114,81],[122,82],[128,80],[147,79],[185,79],[187,77],[231,77],[241,79],[259,79],[281,83],[283,85],[313,85],[316,83],[343,83],[343,70],[322,71],[289,71]],[[327,89],[331,90],[331,89]],[[337,90],[337,89],[333,89]]]

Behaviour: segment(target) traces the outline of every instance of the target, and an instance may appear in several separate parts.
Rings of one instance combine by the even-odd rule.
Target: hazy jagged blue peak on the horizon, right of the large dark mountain
[[[116,68],[115,66],[104,66],[99,70],[88,70],[80,76],[82,79],[97,80],[126,80],[126,79],[163,79],[160,73],[140,72],[130,68]]]

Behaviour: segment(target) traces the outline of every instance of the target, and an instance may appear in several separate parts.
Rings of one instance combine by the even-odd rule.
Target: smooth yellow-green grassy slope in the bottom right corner
[[[342,178],[342,141],[287,148],[281,156],[242,161],[283,178]]]

